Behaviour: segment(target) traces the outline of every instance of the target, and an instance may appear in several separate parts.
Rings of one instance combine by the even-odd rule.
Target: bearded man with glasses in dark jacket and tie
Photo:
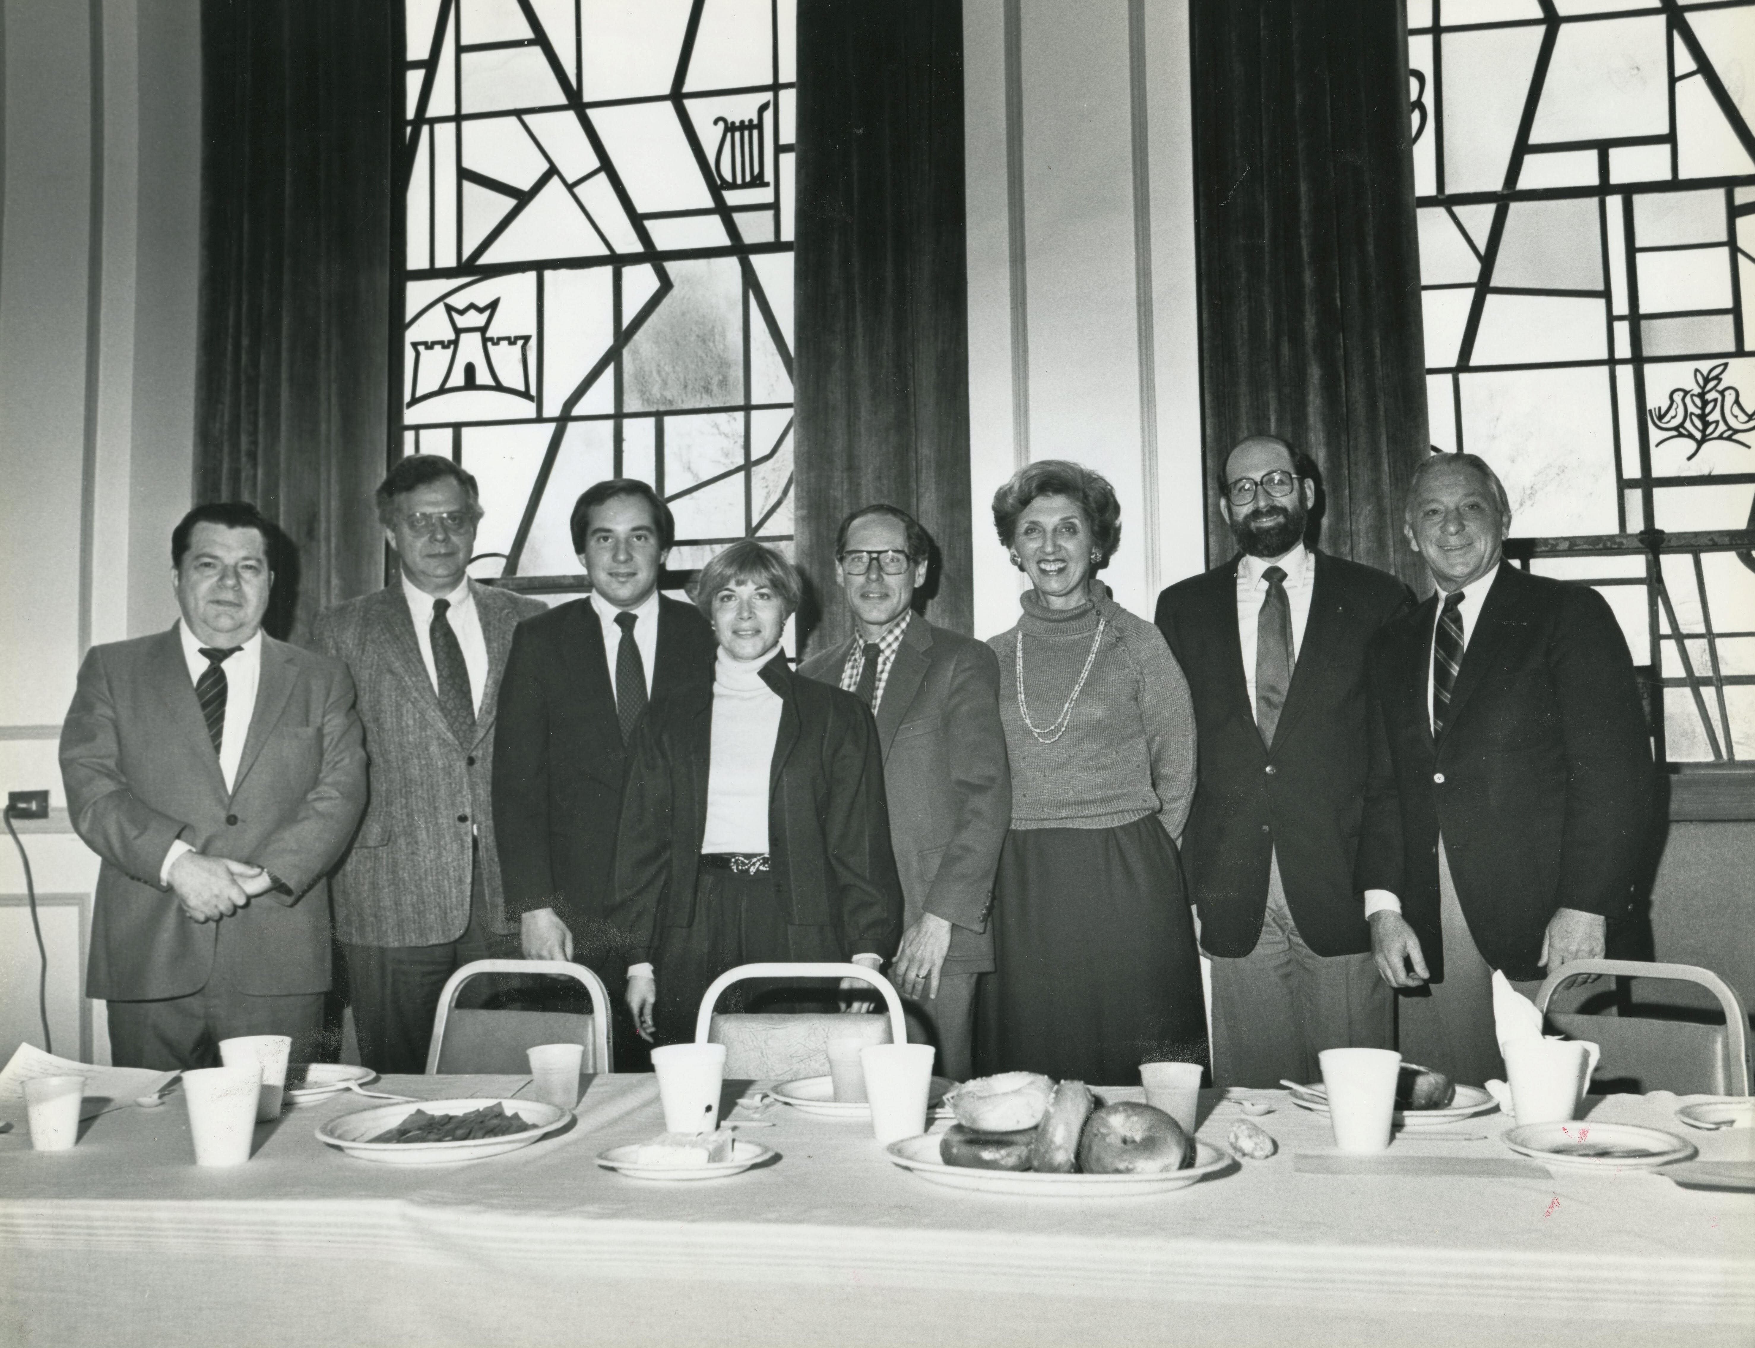
[[[1158,597],[1195,702],[1183,867],[1213,962],[1213,1079],[1314,1081],[1325,1048],[1390,1048],[1355,878],[1369,762],[1365,649],[1413,597],[1304,542],[1314,465],[1251,435],[1220,474],[1241,549]]]

